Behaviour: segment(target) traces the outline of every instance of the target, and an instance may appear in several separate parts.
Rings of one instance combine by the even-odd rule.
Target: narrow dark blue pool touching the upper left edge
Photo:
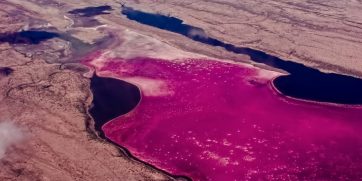
[[[0,43],[10,44],[39,44],[42,41],[59,37],[58,33],[48,31],[29,30],[14,33],[1,33]]]

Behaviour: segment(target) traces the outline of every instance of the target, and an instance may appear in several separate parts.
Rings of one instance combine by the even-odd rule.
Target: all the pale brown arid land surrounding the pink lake
[[[240,47],[362,77],[360,0],[4,0],[0,2],[0,122],[19,127],[22,139],[7,147],[1,158],[0,180],[175,179],[128,158],[94,129],[88,114],[92,70],[78,64],[91,52],[102,50],[120,58],[207,57],[257,64],[246,55],[130,21],[120,13],[122,3],[178,17],[210,37]],[[102,5],[112,9],[90,16],[68,13]],[[28,30],[55,34],[39,42],[23,40],[19,32]]]

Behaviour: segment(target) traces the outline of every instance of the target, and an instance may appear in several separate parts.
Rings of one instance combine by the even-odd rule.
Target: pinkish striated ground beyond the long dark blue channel
[[[208,35],[326,71],[362,75],[362,2],[124,1],[183,19]]]

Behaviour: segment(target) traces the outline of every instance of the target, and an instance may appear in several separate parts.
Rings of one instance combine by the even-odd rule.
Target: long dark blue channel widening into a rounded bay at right
[[[249,55],[254,62],[285,70],[290,75],[278,77],[274,80],[274,84],[280,92],[287,96],[319,102],[362,104],[362,79],[335,73],[323,73],[260,50],[237,47],[208,37],[201,28],[187,25],[175,17],[146,13],[126,6],[122,7],[122,14],[130,20],[178,33],[207,45],[223,47],[232,53]]]

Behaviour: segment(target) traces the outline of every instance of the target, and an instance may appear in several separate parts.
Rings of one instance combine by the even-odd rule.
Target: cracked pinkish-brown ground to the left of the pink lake
[[[7,28],[2,33],[37,22],[27,11],[0,6],[1,26]],[[8,17],[8,11],[18,13]],[[82,68],[48,64],[36,56],[54,57],[62,44],[62,40],[21,47],[0,43],[0,67],[13,70],[0,73],[0,122],[14,123],[24,135],[0,159],[0,180],[172,180],[96,136],[87,114],[90,82]],[[32,48],[41,52],[29,54]],[[22,53],[26,49],[29,52]]]

